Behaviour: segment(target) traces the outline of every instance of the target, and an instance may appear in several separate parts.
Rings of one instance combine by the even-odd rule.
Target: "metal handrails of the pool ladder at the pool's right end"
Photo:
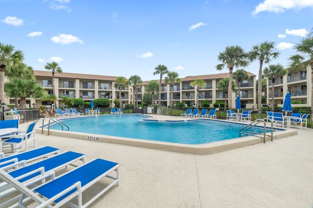
[[[267,135],[267,134],[266,134],[266,123],[267,123],[266,121],[269,121],[269,122],[271,123],[270,135]],[[249,130],[250,130],[252,127],[254,127],[255,125],[257,125],[257,124],[259,124],[259,123],[261,123],[261,122],[263,122],[263,124],[264,124],[264,132],[263,132],[263,133],[249,132]],[[242,131],[244,131],[245,129],[246,129],[246,132],[242,132]],[[250,135],[250,136],[261,137],[261,138],[263,138],[263,143],[265,143],[266,136],[270,136],[270,138],[271,138],[270,141],[273,141],[273,121],[270,120],[269,118],[264,118],[264,119],[258,118],[258,119],[256,119],[255,121],[253,121],[253,122],[249,123],[248,125],[244,126],[243,128],[241,128],[241,129],[239,130],[239,137],[241,137],[242,134],[246,134],[246,135]],[[260,135],[262,135],[262,136],[257,135],[257,134],[260,134]]]

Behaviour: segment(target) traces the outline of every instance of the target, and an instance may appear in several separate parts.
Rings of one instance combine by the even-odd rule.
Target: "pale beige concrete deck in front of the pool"
[[[40,126],[39,122],[36,126]],[[22,124],[24,129],[26,124]],[[212,154],[163,151],[36,134],[52,146],[120,164],[121,183],[94,208],[311,208],[313,129]],[[99,191],[95,186],[92,194]]]

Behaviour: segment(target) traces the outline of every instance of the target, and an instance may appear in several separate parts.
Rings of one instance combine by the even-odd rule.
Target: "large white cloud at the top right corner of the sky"
[[[255,7],[252,14],[256,15],[259,12],[285,12],[288,9],[302,9],[305,7],[313,7],[313,0],[265,0]]]

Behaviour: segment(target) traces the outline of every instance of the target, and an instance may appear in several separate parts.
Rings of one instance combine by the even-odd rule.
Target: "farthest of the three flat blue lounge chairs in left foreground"
[[[13,166],[15,167],[14,163],[24,161],[24,163],[27,164],[29,162],[45,158],[50,154],[58,154],[59,151],[60,151],[59,149],[47,146],[33,149],[30,151],[24,151],[7,157],[4,157],[4,153],[1,152],[0,168],[4,168],[7,170]]]

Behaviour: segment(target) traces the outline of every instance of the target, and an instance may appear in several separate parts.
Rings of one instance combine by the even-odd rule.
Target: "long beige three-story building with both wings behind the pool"
[[[52,73],[50,71],[37,71],[34,70],[34,75],[38,85],[42,86],[48,95],[52,95]],[[251,108],[256,107],[256,76],[248,73],[249,79],[243,80],[240,83],[240,96],[242,107]],[[179,83],[175,83],[173,91],[173,103],[182,102],[185,106],[194,106],[196,103],[197,89],[191,85],[191,82],[201,78],[205,82],[205,86],[199,90],[198,102],[201,106],[203,100],[208,99],[211,107],[216,100],[224,100],[225,92],[218,89],[219,81],[228,77],[228,73],[220,73],[214,75],[201,75],[201,76],[186,76],[181,78]],[[117,76],[100,76],[100,75],[87,75],[75,73],[55,73],[55,95],[59,98],[59,104],[62,100],[61,96],[68,96],[70,98],[82,98],[85,102],[92,99],[108,98],[111,101],[111,106],[114,106],[114,99],[119,99],[119,90],[114,87]],[[159,80],[156,80],[159,82]],[[142,98],[146,92],[146,86],[150,81],[144,81],[138,88],[136,100],[138,104],[142,104]],[[237,92],[232,93],[232,106],[235,107],[236,96],[238,93],[238,82],[235,80]],[[227,97],[226,97],[227,98]],[[133,87],[128,86],[122,89],[122,102],[123,104],[134,103]],[[157,103],[157,100],[155,101]],[[6,103],[14,104],[14,98],[7,98]],[[34,103],[36,106],[47,105],[47,101],[35,100],[28,98],[26,100],[27,106],[32,107]],[[170,86],[161,83],[161,106],[170,105]],[[59,107],[59,106],[56,106]]]

